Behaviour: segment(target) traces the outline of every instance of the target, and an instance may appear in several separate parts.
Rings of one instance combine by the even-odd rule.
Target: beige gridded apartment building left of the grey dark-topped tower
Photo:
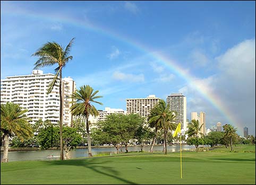
[[[142,117],[148,117],[150,110],[160,99],[156,95],[149,95],[147,98],[126,99],[126,112],[138,113]]]

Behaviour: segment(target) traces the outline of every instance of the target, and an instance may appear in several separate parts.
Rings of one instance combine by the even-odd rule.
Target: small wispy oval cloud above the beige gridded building
[[[122,72],[114,72],[113,78],[115,80],[127,81],[127,82],[144,82],[144,75],[125,74]]]

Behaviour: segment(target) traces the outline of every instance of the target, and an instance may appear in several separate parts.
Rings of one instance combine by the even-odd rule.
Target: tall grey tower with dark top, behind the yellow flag
[[[172,93],[166,98],[167,104],[170,106],[170,110],[176,111],[176,123],[181,123],[183,131],[187,130],[186,122],[186,97],[182,93]]]

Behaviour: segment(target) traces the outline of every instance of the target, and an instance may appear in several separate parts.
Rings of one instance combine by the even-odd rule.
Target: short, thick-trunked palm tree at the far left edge
[[[9,137],[16,135],[21,141],[33,136],[33,129],[19,104],[1,104],[1,132],[4,138],[4,154],[1,162],[8,162]]]

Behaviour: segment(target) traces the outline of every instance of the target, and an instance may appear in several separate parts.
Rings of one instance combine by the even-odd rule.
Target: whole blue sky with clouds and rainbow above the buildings
[[[1,79],[31,74],[33,52],[72,38],[63,76],[99,90],[98,109],[183,93],[188,119],[204,111],[207,128],[255,135],[254,1],[1,1]]]

